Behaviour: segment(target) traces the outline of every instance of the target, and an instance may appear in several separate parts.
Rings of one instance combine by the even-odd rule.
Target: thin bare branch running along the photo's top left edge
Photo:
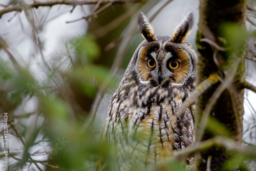
[[[131,2],[131,3],[139,3],[142,2],[142,0],[119,0],[119,1],[114,1],[114,0],[102,0],[101,4],[108,4],[108,3],[126,3],[126,2]],[[38,7],[52,7],[54,5],[90,5],[90,4],[97,4],[98,0],[52,0],[52,1],[45,1],[45,2],[39,2],[39,1],[34,1],[32,4],[27,4],[26,8],[38,8]],[[24,10],[24,6],[22,5],[9,5],[6,8],[0,10],[0,18],[2,17],[3,14],[12,12],[12,11],[18,11],[21,12]]]

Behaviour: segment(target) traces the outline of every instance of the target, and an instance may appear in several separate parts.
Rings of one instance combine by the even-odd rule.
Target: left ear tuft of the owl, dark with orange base
[[[139,17],[138,17],[138,28],[140,31],[140,34],[144,39],[146,39],[148,42],[156,41],[157,38],[154,34],[154,29],[151,26],[150,22],[148,21],[146,15],[140,11]]]

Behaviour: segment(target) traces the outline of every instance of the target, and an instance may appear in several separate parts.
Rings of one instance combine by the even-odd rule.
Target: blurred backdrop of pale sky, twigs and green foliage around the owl
[[[187,40],[196,49],[199,1],[26,8],[31,3],[0,2],[0,11],[23,9],[0,19],[1,139],[5,112],[9,124],[9,167],[2,165],[1,140],[0,170],[94,170],[98,156],[110,148],[99,141],[109,101],[143,40],[138,12],[152,20],[156,35],[168,36],[194,12]],[[255,27],[248,22],[247,29]],[[246,60],[246,80],[254,85],[255,69],[255,62]],[[250,144],[256,144],[255,99],[245,91],[244,142]]]

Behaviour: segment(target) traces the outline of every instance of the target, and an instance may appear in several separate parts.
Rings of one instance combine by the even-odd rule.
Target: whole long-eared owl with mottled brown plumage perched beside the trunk
[[[111,170],[144,170],[193,143],[195,104],[176,116],[196,87],[197,54],[185,38],[189,13],[170,36],[155,36],[140,12],[144,38],[127,66],[108,109],[103,138],[113,146]],[[193,163],[193,157],[187,162]]]

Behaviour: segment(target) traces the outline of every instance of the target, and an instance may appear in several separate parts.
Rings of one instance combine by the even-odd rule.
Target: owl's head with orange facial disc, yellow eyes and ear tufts
[[[140,12],[138,27],[142,37],[130,62],[130,71],[139,84],[153,87],[177,87],[194,82],[197,54],[185,40],[193,26],[189,13],[170,36],[155,36],[145,14]]]

